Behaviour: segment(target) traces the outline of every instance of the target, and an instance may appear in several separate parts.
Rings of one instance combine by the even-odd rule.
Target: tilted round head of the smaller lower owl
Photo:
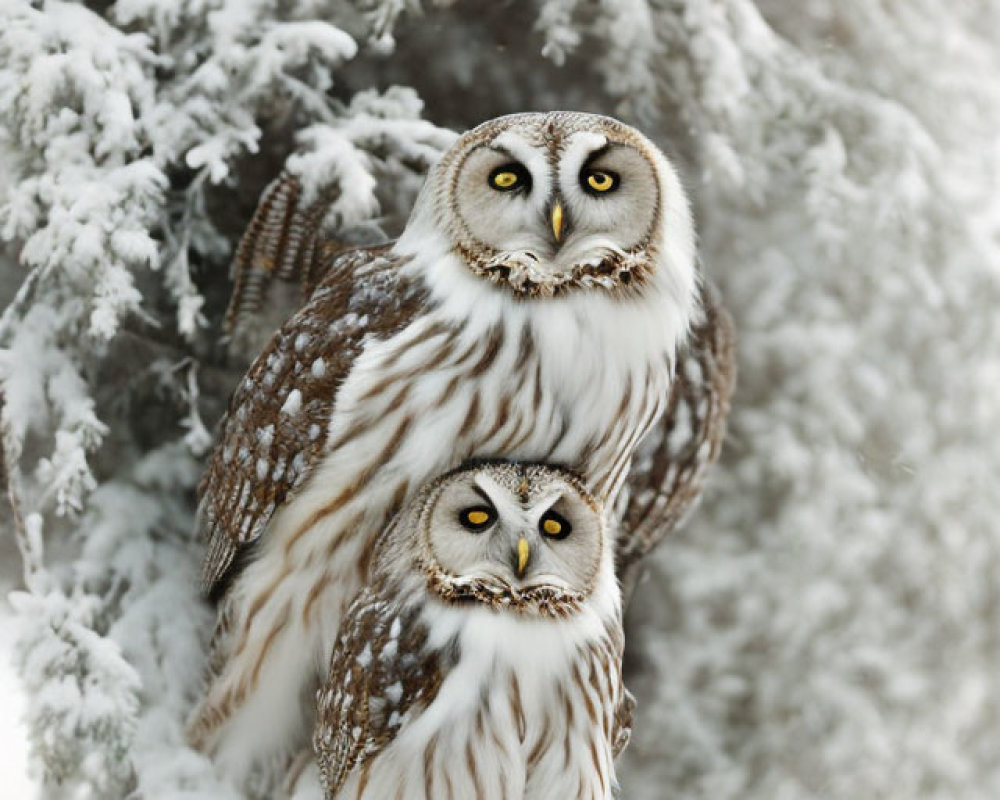
[[[429,484],[390,540],[432,595],[550,617],[579,610],[613,575],[599,505],[579,479],[538,464],[486,462]],[[408,557],[407,555],[408,554]]]

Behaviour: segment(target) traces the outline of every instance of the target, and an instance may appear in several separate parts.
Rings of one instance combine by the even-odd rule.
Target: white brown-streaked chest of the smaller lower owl
[[[596,614],[525,621],[488,610],[429,609],[429,645],[460,657],[434,700],[338,798],[605,800],[620,651]]]

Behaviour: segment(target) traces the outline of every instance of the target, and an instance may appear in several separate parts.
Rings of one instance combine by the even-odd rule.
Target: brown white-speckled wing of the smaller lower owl
[[[455,646],[427,646],[420,609],[368,588],[344,615],[329,676],[316,693],[313,749],[328,798],[433,702],[457,658]]]

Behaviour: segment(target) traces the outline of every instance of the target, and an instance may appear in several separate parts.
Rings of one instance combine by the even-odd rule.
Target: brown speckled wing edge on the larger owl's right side
[[[626,598],[636,565],[692,509],[722,449],[736,380],[735,336],[729,313],[707,285],[701,302],[704,316],[678,354],[666,413],[629,472],[617,554]]]

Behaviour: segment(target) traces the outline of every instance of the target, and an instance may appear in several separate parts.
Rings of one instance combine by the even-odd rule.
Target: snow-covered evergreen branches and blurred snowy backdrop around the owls
[[[182,722],[261,188],[392,235],[452,131],[575,108],[677,160],[739,333],[624,796],[1000,797],[998,42],[996,0],[0,0],[4,796],[25,737],[44,797],[236,796]]]

